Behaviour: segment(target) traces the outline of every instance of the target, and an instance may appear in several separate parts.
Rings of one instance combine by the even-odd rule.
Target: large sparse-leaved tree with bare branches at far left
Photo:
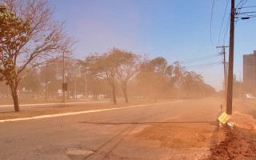
[[[0,80],[10,86],[19,111],[18,84],[35,66],[69,53],[75,41],[54,21],[46,0],[2,0],[0,9]],[[28,67],[29,66],[29,67]]]

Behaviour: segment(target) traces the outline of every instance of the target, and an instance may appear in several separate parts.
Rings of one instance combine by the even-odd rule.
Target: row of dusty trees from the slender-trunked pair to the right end
[[[169,65],[165,58],[149,59],[138,54],[113,48],[103,54],[90,54],[81,63],[92,77],[105,79],[112,89],[116,104],[116,86],[121,86],[128,102],[132,95],[158,98],[204,98],[216,91],[203,82],[202,75],[187,71],[179,62]]]

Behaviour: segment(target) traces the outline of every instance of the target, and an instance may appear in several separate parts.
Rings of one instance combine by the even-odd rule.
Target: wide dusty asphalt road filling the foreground
[[[216,127],[210,123],[215,121],[219,108],[220,101],[215,99],[186,100],[3,122],[0,123],[0,159],[181,159],[177,157],[181,154],[186,154],[182,159],[198,159],[197,156],[202,155],[195,153],[202,150],[204,154],[209,148],[207,136],[210,137]],[[197,128],[191,128],[194,123]],[[166,135],[168,127],[172,132]],[[200,130],[207,131],[206,138],[198,137]],[[186,142],[184,138],[175,137],[185,134],[197,138],[197,143],[189,143],[190,137]],[[166,136],[174,138],[165,143]],[[199,142],[201,146],[197,146]],[[179,143],[185,146],[178,146]],[[187,157],[187,154],[191,155]]]

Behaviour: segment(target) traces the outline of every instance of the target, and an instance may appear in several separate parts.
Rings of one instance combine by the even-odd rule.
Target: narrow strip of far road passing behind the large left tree
[[[60,106],[91,106],[93,104],[107,104],[110,101],[96,101],[96,102],[67,102],[67,103],[42,103],[42,104],[22,104],[21,110],[34,110],[41,108],[54,108]],[[0,112],[14,111],[13,105],[0,105]]]

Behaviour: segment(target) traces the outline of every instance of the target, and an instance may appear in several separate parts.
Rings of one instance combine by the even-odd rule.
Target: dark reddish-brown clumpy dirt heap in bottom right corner
[[[256,159],[256,134],[254,130],[224,127],[226,138],[216,148],[211,148],[212,155],[206,160],[242,160]]]

